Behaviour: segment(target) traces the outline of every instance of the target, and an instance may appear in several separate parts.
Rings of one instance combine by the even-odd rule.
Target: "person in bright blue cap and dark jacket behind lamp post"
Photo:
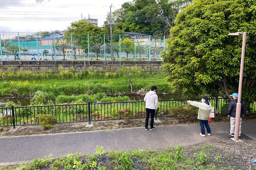
[[[232,96],[234,100],[232,100],[228,106],[227,114],[228,114],[228,117],[230,117],[230,130],[228,134],[231,136],[234,136],[234,127],[235,127],[235,121],[236,121],[236,104],[237,104],[238,94],[233,93],[230,96]],[[241,129],[242,117],[245,116],[245,112],[246,112],[245,102],[241,100],[241,117],[240,117],[239,136],[242,135],[242,129]]]

